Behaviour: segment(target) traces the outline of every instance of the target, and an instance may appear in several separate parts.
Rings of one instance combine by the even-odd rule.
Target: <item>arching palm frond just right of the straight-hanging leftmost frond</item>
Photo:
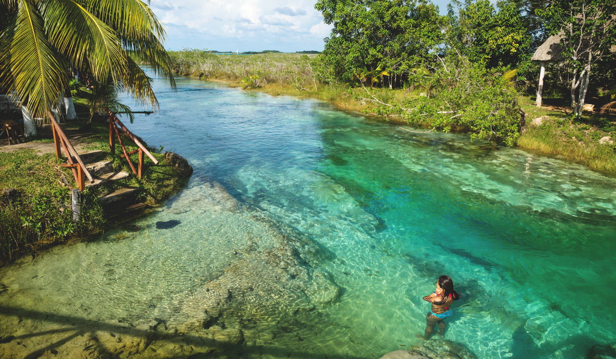
[[[115,31],[74,0],[44,2],[49,40],[78,68],[87,67],[98,82],[126,71],[124,50]]]

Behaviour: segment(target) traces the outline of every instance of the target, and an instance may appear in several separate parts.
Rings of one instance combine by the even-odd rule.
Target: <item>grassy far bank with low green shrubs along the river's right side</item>
[[[375,81],[375,73],[366,76],[368,81],[337,81],[328,75],[320,55],[221,57],[194,49],[169,55],[178,75],[225,81],[230,87],[270,95],[325,100],[342,110],[425,131],[468,133],[471,140],[492,140],[616,174],[616,116],[585,111],[575,118],[566,107],[549,105],[559,104],[551,99],[544,99],[548,105],[537,108],[533,96],[516,88],[515,70],[488,71],[468,62],[444,62],[448,71],[424,73],[419,81],[410,79],[390,89],[383,86],[386,75]],[[448,82],[452,77],[457,81]]]

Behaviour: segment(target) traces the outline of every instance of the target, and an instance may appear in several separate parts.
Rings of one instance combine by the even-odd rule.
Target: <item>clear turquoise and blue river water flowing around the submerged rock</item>
[[[298,315],[275,337],[280,348],[370,358],[411,345],[429,310],[421,297],[445,273],[463,293],[447,338],[479,357],[578,358],[613,341],[614,178],[315,100],[193,78],[178,79],[176,93],[156,87],[161,114],[129,127],[188,159],[188,187],[138,220],[140,232],[111,231],[5,272],[27,293],[12,301],[93,320],[177,312],[233,262],[235,243],[274,248],[250,209],[322,244],[330,256],[310,265],[344,288],[338,303]],[[213,181],[233,198],[217,198]],[[234,201],[243,209],[227,211]],[[182,224],[153,227],[169,219]]]

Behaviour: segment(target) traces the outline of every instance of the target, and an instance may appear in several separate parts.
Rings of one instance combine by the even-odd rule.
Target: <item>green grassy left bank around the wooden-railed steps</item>
[[[86,112],[76,104],[78,113]],[[86,115],[84,115],[86,116]],[[105,151],[105,159],[114,161],[116,171],[123,170],[131,175],[110,185],[86,188],[82,220],[73,222],[70,202],[71,189],[76,188],[70,170],[61,167],[64,162],[52,153],[37,155],[31,149],[22,149],[0,155],[0,189],[15,188],[15,196],[9,201],[0,198],[0,265],[27,252],[35,253],[51,244],[81,240],[105,230],[107,220],[103,209],[97,203],[100,195],[121,187],[141,188],[141,201],[155,205],[184,185],[184,180],[172,166],[167,166],[163,156],[156,148],[150,151],[160,163],[154,165],[146,158],[145,175],[138,179],[132,174],[125,159],[120,158],[120,145],[116,144],[116,154],[109,153],[108,124],[94,121],[87,124],[85,118],[62,124],[65,131],[75,131],[81,137],[79,142],[84,150]],[[130,127],[130,126],[129,126]],[[51,131],[40,129],[38,142],[53,143]],[[124,139],[127,151],[137,147]],[[138,162],[137,154],[131,156]],[[102,159],[100,159],[102,160]],[[61,180],[64,177],[68,185]]]

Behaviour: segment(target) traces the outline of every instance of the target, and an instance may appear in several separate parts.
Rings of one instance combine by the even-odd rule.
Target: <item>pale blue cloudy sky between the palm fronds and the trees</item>
[[[166,48],[219,51],[323,50],[331,26],[315,0],[152,0],[167,30]],[[446,12],[449,0],[433,1]]]

